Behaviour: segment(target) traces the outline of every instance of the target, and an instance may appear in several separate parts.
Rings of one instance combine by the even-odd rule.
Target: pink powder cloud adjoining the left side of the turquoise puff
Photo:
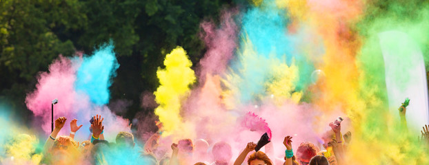
[[[28,109],[43,120],[42,128],[50,132],[51,104],[54,98],[59,100],[55,105],[54,118],[59,115],[72,115],[77,113],[76,107],[79,95],[74,90],[76,69],[69,58],[59,56],[49,66],[49,72],[43,72],[38,76],[39,82],[36,90],[26,97]]]

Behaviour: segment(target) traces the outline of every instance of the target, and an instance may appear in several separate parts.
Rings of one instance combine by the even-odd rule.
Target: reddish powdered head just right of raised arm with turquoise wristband
[[[317,152],[319,152],[319,148],[315,146],[315,144],[303,142],[297,149],[297,162],[301,165],[306,165],[310,162],[310,159],[317,154]]]

